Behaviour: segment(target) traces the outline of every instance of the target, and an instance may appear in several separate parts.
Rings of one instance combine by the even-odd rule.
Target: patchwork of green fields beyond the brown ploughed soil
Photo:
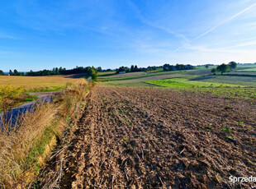
[[[189,71],[134,72],[124,75],[99,76],[102,86],[159,87],[168,90],[186,90],[225,98],[256,99],[256,77],[249,66],[233,72],[213,76],[211,67],[197,67]],[[255,72],[256,73],[256,72]],[[231,74],[236,74],[231,76]],[[240,76],[239,76],[240,74]],[[230,76],[229,76],[230,75]]]

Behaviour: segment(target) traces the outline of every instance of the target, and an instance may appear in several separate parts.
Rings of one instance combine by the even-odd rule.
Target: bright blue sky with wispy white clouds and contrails
[[[255,0],[2,0],[0,70],[256,62]]]

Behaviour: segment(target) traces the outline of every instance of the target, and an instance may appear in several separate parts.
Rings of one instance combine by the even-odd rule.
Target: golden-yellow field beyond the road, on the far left
[[[63,90],[66,83],[81,83],[83,79],[64,76],[0,76],[0,86],[24,87],[26,91]],[[39,87],[40,86],[40,87]]]

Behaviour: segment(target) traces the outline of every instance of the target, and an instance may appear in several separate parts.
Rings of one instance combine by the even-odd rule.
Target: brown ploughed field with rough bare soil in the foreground
[[[256,172],[248,102],[126,87],[96,87],[88,100],[61,188],[226,188]]]

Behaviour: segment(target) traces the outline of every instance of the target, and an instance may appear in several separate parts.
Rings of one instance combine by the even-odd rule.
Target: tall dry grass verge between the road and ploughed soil
[[[21,115],[18,124],[2,125],[0,132],[0,187],[24,187],[33,181],[50,148],[73,119],[91,84],[68,85],[52,103],[38,104]]]

